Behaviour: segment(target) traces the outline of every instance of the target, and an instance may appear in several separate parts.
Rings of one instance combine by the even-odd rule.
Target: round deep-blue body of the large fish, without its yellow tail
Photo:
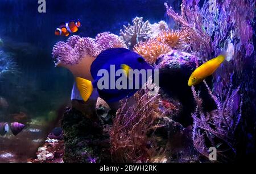
[[[138,55],[133,51],[130,51],[129,49],[110,48],[110,49],[107,49],[106,51],[101,52],[100,55],[97,56],[96,60],[93,61],[90,67],[90,72],[94,79],[94,81],[92,82],[93,88],[97,88],[98,94],[106,102],[115,102],[115,101],[121,100],[122,98],[130,97],[138,90],[134,88],[135,77],[133,77],[134,80],[131,81],[131,83],[133,84],[132,89],[129,89],[130,79],[127,79],[126,89],[115,88],[115,84],[113,83],[115,83],[118,80],[118,78],[120,78],[121,76],[120,77],[112,76],[111,73],[114,72],[115,74],[119,69],[121,69],[123,64],[128,65],[133,70],[137,69],[138,71],[141,71],[142,69],[144,69],[146,72],[147,70],[151,70],[152,72],[151,76],[153,76],[154,74],[154,68],[152,68],[148,63],[146,63],[146,61],[142,56]],[[114,65],[115,71],[111,69],[111,65],[112,66]],[[98,71],[100,69],[105,69],[105,71],[107,71],[109,74],[109,77],[108,77],[109,84],[107,89],[98,88],[98,80],[102,78],[101,74],[100,76],[98,75]],[[141,88],[142,85],[143,85],[143,82],[142,82],[142,78],[140,77],[139,88]],[[114,89],[111,88],[113,86],[114,86]]]

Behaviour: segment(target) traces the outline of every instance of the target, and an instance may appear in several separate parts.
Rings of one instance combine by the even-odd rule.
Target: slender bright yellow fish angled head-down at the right
[[[220,67],[220,64],[225,60],[225,58],[226,53],[221,53],[221,55],[205,62],[200,67],[196,68],[189,77],[188,86],[197,85],[212,73],[214,73],[214,71]]]

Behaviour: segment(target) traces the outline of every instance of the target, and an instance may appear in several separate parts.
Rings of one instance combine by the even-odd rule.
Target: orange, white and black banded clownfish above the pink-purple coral
[[[61,23],[59,28],[56,28],[55,35],[56,36],[69,36],[73,32],[77,32],[78,28],[81,27],[81,23],[79,20],[75,22],[72,20],[68,23]]]

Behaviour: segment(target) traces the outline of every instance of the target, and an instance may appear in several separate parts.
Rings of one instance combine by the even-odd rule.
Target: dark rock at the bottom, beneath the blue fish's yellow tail
[[[109,134],[96,114],[95,101],[79,103],[64,112],[61,126],[64,131],[64,162],[93,163],[110,161]]]

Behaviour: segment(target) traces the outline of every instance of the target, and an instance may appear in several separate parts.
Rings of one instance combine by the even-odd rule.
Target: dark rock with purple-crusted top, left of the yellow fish
[[[170,96],[171,100],[180,101],[185,110],[181,111],[183,126],[192,123],[191,112],[193,111],[193,96],[188,86],[188,78],[195,70],[198,58],[189,53],[172,50],[156,60],[155,68],[159,69],[159,86],[162,94]],[[180,106],[179,106],[180,107]]]

